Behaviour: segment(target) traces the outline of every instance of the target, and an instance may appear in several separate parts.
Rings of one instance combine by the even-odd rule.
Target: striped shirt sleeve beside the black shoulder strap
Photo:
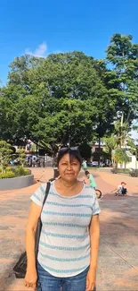
[[[45,189],[46,189],[46,183],[41,184],[40,187],[37,188],[36,192],[31,195],[30,197],[31,201],[33,201],[39,206],[43,206],[43,201],[45,198]]]

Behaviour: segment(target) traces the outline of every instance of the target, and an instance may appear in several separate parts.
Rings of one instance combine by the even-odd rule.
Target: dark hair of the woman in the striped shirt
[[[57,157],[57,165],[58,166],[59,166],[61,158],[66,154],[69,154],[70,161],[73,160],[74,158],[77,158],[77,160],[80,164],[80,167],[81,167],[82,157],[79,153],[79,150],[77,150],[75,148],[61,148],[61,150],[58,153],[58,157]]]

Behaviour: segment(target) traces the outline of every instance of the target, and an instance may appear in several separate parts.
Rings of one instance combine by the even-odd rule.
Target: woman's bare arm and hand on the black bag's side
[[[26,228],[26,252],[27,252],[27,273],[25,277],[25,286],[36,287],[37,270],[36,270],[36,257],[35,257],[35,233],[37,229],[37,221],[41,214],[41,206],[35,202],[31,203],[28,224]]]

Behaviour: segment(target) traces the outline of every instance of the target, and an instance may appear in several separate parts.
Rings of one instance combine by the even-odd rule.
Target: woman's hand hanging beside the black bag
[[[26,276],[25,276],[25,286],[31,287],[33,290],[37,289],[37,270],[27,270]]]

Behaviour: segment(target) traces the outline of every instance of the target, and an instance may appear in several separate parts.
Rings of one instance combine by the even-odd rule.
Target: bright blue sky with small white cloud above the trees
[[[103,58],[113,33],[138,42],[138,0],[1,0],[0,80],[15,56],[81,50]]]

